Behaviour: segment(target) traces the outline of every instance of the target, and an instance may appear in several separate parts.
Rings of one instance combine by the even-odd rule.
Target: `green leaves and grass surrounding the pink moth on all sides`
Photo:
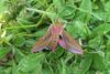
[[[57,18],[82,56],[31,53]],[[0,74],[110,74],[110,0],[0,0]]]

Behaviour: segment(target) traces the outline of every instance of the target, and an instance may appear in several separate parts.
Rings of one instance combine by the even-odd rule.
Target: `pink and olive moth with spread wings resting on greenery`
[[[57,22],[56,24],[51,24],[46,34],[34,44],[34,46],[32,47],[32,52],[38,52],[46,47],[55,51],[57,45],[61,45],[72,53],[84,53],[81,46],[75,39],[70,36],[69,33],[64,30],[64,27],[61,22]]]

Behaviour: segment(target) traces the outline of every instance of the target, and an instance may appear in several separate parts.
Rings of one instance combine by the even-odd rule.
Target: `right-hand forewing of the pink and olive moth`
[[[84,53],[78,42],[75,39],[73,39],[66,31],[63,31],[63,40],[66,44],[67,50],[70,51],[72,53],[77,53],[77,54]]]

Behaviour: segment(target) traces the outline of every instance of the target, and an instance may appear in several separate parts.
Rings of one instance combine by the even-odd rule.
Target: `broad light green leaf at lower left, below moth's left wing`
[[[40,62],[42,62],[43,59],[44,54],[42,53],[30,54],[20,61],[18,70],[23,72],[35,70],[36,66],[40,67]]]

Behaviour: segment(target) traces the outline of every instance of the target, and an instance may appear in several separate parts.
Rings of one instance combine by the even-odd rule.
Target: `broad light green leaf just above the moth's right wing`
[[[88,29],[86,23],[81,21],[74,21],[69,25],[66,27],[67,32],[69,32],[74,38],[86,38],[90,34],[90,30]]]

